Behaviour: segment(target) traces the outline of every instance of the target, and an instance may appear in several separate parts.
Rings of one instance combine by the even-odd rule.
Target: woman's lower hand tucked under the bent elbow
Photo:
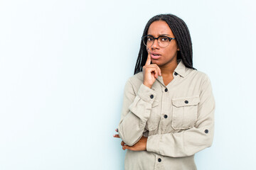
[[[117,129],[115,131],[118,132]],[[114,135],[114,137],[119,137],[119,135],[116,134]],[[124,141],[121,142],[121,145],[123,150],[130,149],[132,151],[144,151],[146,150],[146,141],[147,141],[147,137],[142,136],[139,139],[139,141],[136,144],[132,145],[131,147],[128,145],[125,145]]]

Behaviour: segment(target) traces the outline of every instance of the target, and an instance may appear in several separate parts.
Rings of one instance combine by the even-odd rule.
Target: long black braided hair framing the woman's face
[[[178,18],[173,14],[159,14],[157,16],[152,17],[148,21],[148,23],[146,23],[146,27],[144,28],[142,36],[147,35],[149,26],[154,21],[165,21],[169,25],[171,31],[174,33],[174,36],[176,37],[178,47],[180,49],[177,53],[177,60],[181,59],[186,67],[196,69],[193,67],[191,35],[188,31],[186,23],[181,18]],[[139,55],[134,69],[134,74],[142,72],[142,67],[146,64],[147,55],[148,53],[146,50],[146,46],[143,44],[143,41],[141,41]]]

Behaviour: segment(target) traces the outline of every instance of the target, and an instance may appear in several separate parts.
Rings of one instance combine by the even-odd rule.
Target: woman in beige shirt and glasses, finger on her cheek
[[[214,112],[210,79],[193,68],[186,23],[172,14],[154,16],[125,84],[114,135],[127,149],[125,169],[196,169],[194,154],[213,142]]]

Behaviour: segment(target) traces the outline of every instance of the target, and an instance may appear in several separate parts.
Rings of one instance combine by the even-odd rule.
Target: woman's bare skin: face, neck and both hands
[[[174,33],[172,33],[171,28],[165,21],[154,21],[149,26],[148,35],[153,35],[154,38],[159,37],[159,35],[166,35],[170,38],[175,38]],[[147,47],[148,57],[146,64],[142,68],[143,71],[143,84],[151,89],[151,86],[156,81],[159,76],[163,77],[164,84],[168,85],[171,80],[174,79],[173,73],[176,69],[177,63],[177,52],[179,51],[178,44],[176,40],[171,40],[167,47],[160,47],[157,40],[151,47]],[[153,59],[151,53],[158,53],[161,55],[159,59]],[[151,64],[152,63],[152,64]],[[118,130],[115,130],[118,132]],[[119,137],[118,134],[113,135],[113,137]],[[133,151],[143,151],[146,150],[147,137],[142,136],[141,139],[133,146],[125,145],[122,141],[122,149],[130,149]]]

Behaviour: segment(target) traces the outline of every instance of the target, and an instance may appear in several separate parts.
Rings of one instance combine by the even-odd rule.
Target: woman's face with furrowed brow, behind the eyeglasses
[[[171,28],[165,21],[154,21],[149,26],[147,35],[152,35],[154,38],[158,38],[160,35],[166,35],[169,38],[175,38]],[[178,45],[177,41],[171,40],[167,47],[160,47],[157,40],[154,40],[154,44],[149,48],[152,64],[157,64],[159,67],[168,65],[171,62],[176,62]]]

